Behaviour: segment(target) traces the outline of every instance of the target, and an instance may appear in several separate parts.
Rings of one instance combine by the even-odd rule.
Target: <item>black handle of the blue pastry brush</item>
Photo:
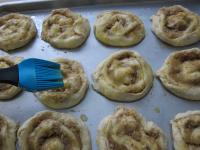
[[[18,86],[19,83],[19,70],[18,66],[0,69],[0,83],[9,83]]]

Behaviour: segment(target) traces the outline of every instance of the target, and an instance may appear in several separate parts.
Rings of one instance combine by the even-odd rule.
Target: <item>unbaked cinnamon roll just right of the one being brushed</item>
[[[115,101],[140,99],[152,84],[150,65],[135,51],[121,50],[110,55],[93,73],[94,89]]]

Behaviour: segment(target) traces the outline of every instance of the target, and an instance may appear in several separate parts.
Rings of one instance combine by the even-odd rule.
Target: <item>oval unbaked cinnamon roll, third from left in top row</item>
[[[111,46],[131,46],[145,36],[143,22],[126,11],[108,11],[97,16],[94,25],[96,38]]]

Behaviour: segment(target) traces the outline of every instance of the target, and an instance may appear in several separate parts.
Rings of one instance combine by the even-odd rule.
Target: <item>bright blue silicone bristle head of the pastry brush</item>
[[[30,58],[18,64],[19,86],[28,91],[64,87],[60,64]]]

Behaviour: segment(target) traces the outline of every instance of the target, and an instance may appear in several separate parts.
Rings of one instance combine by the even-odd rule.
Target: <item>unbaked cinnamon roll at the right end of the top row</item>
[[[200,17],[180,5],[163,7],[152,16],[152,31],[170,45],[190,45],[200,40]]]

